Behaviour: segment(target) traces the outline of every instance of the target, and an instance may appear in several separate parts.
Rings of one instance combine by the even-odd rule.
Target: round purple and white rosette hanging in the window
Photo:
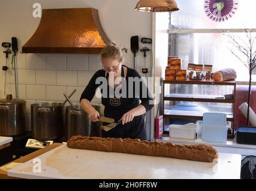
[[[237,0],[204,0],[204,12],[216,22],[230,19],[238,7]]]

